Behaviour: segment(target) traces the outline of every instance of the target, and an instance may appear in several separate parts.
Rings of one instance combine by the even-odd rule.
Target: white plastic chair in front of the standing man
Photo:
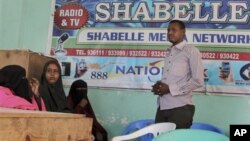
[[[153,134],[153,136],[156,137],[163,132],[175,130],[175,128],[176,128],[176,125],[174,123],[170,123],[170,122],[155,123],[155,124],[146,126],[140,130],[137,130],[133,133],[113,137],[112,141],[123,141],[123,140],[135,139],[135,138],[138,138],[140,136],[143,136],[149,133]]]

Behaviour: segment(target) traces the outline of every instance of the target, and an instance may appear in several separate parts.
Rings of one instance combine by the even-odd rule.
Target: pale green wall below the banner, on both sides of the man
[[[156,96],[149,91],[90,89],[88,96],[111,137],[119,135],[129,122],[155,115]],[[194,121],[214,124],[226,135],[230,124],[250,123],[249,96],[194,94],[194,103]]]

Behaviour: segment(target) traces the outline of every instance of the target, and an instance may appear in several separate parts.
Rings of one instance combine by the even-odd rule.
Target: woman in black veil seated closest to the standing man
[[[88,86],[83,80],[76,80],[72,83],[67,97],[68,103],[72,106],[74,113],[85,114],[93,118],[92,134],[95,141],[108,141],[107,131],[98,123],[95,113],[91,107],[88,96]]]

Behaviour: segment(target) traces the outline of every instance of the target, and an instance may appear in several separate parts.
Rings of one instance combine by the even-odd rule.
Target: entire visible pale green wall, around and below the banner
[[[0,0],[0,49],[46,53],[51,42],[53,3],[54,0]],[[68,92],[69,88],[65,90]],[[153,119],[156,111],[156,96],[149,91],[90,88],[89,98],[110,138],[119,135],[131,121]],[[230,124],[250,124],[249,96],[195,94],[194,102],[195,121],[217,125],[227,135]]]

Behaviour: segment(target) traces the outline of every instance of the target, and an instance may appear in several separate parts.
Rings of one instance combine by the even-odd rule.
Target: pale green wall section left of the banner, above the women
[[[54,0],[0,0],[0,49],[47,52]]]

